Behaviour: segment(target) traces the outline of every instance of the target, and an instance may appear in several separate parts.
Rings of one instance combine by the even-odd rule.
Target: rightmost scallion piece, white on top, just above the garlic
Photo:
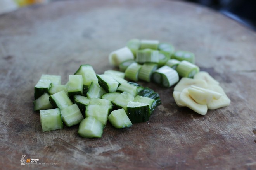
[[[193,78],[194,75],[199,72],[199,67],[189,61],[183,60],[177,66],[176,71],[180,77]]]

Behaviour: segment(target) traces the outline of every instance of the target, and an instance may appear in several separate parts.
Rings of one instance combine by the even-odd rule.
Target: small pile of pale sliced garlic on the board
[[[209,73],[199,71],[194,78],[182,78],[174,87],[173,97],[178,106],[186,106],[205,115],[208,109],[230,104],[230,99],[219,84]]]

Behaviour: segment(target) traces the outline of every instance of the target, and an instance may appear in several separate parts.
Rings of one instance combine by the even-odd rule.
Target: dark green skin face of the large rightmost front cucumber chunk
[[[149,105],[140,107],[127,107],[127,116],[131,123],[142,123],[149,121]]]

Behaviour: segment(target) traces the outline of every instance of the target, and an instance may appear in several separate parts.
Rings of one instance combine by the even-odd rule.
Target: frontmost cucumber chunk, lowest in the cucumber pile
[[[78,134],[83,138],[101,138],[104,124],[92,116],[83,119],[78,128]]]

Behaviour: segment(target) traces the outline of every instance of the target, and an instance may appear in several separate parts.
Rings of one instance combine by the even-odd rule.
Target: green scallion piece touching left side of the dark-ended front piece
[[[138,73],[138,78],[146,82],[150,82],[152,72],[157,69],[157,64],[144,63]]]

